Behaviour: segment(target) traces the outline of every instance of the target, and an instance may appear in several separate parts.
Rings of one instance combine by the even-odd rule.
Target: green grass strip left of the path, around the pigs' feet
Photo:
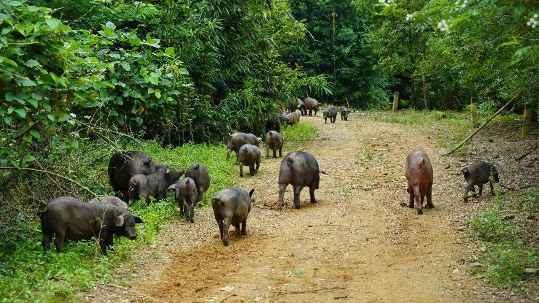
[[[188,144],[169,149],[149,143],[142,151],[160,163],[177,168],[185,169],[196,161],[204,163],[211,178],[210,188],[204,194],[205,204],[219,189],[233,186],[236,181],[233,159],[226,161],[223,145]],[[108,158],[100,165],[107,161]],[[95,170],[106,170],[106,167]],[[73,293],[89,290],[96,281],[107,282],[113,279],[116,269],[132,264],[137,251],[154,244],[166,221],[178,216],[176,208],[171,195],[148,207],[142,207],[137,201],[129,207],[144,221],[135,227],[136,241],[115,237],[114,252],[104,257],[99,255],[99,245],[94,240],[66,242],[64,253],[60,254],[56,253],[54,245],[44,252],[37,215],[29,216],[30,221],[13,222],[9,229],[0,228],[0,302],[73,301]],[[13,237],[15,232],[17,236]]]

